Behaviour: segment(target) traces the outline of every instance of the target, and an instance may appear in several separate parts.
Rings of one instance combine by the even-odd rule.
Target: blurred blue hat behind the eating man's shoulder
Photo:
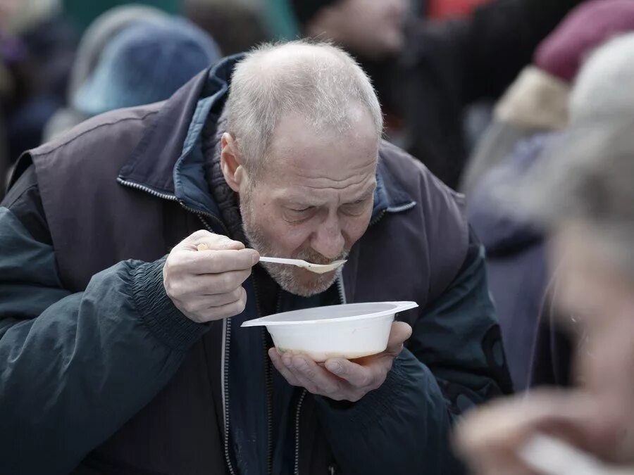
[[[213,39],[187,20],[132,23],[104,48],[73,107],[97,115],[163,101],[218,59]]]

